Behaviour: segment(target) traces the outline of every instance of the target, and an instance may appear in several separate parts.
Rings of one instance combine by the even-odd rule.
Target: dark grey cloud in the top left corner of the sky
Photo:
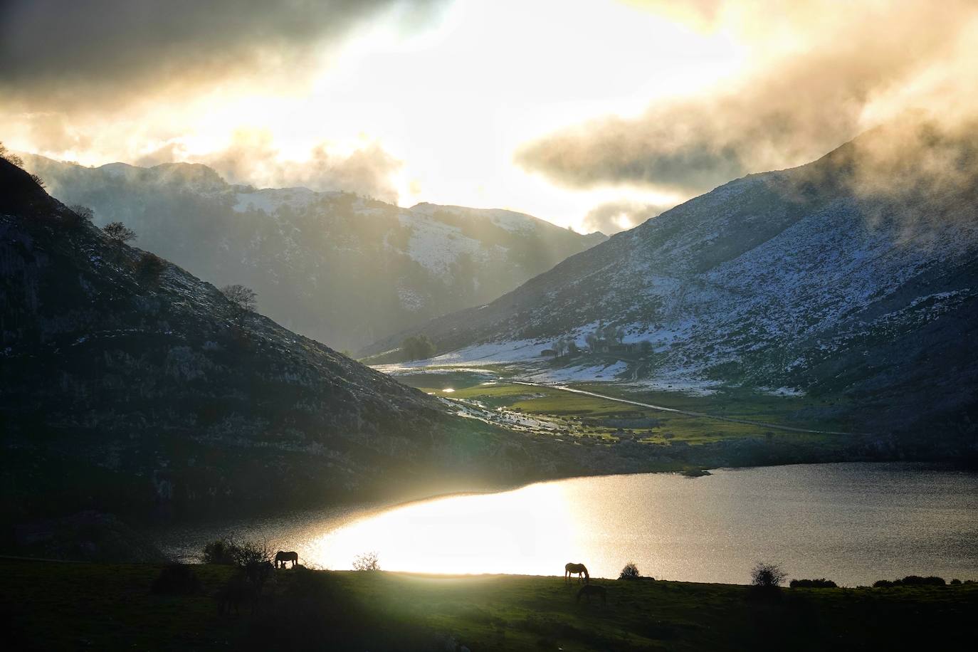
[[[116,106],[251,76],[277,83],[361,22],[422,22],[435,0],[4,0],[0,94],[39,109]]]

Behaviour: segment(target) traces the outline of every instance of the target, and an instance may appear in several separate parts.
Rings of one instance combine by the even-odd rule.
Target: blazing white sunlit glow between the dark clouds
[[[179,102],[143,102],[93,116],[88,147],[38,147],[26,130],[10,146],[85,164],[137,162],[175,147],[205,156],[236,138],[270,138],[301,161],[326,143],[343,154],[377,144],[402,161],[401,205],[418,201],[502,207],[580,226],[595,205],[670,204],[647,189],[568,190],[520,169],[528,140],[589,117],[635,114],[656,98],[697,91],[733,74],[741,57],[723,33],[697,33],[610,1],[457,2],[415,30],[363,25],[337,52],[288,79],[215,84]],[[257,185],[268,183],[254,179]]]

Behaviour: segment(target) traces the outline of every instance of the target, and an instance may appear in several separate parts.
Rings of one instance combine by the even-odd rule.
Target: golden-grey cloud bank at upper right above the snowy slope
[[[658,2],[638,3],[657,11]],[[516,162],[570,188],[627,184],[687,196],[798,165],[907,109],[975,107],[978,3],[805,0],[695,3],[693,22],[736,35],[751,63],[701,97],[607,116],[525,145]]]

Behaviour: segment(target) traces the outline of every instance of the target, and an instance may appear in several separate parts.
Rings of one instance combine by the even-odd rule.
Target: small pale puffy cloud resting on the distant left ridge
[[[189,154],[178,143],[150,152],[135,162],[152,166],[173,161],[203,163],[234,184],[265,188],[305,186],[316,191],[346,191],[397,203],[398,194],[391,175],[402,162],[378,143],[353,152],[333,152],[320,143],[308,160],[289,160],[275,147],[272,135],[264,130],[239,130],[225,149],[205,154]]]

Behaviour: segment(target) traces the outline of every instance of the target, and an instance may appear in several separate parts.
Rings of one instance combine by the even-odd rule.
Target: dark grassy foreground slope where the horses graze
[[[195,595],[154,595],[156,565],[0,561],[8,649],[953,649],[978,585],[781,589],[528,576],[276,571],[254,607],[218,616],[232,569],[198,566]]]

